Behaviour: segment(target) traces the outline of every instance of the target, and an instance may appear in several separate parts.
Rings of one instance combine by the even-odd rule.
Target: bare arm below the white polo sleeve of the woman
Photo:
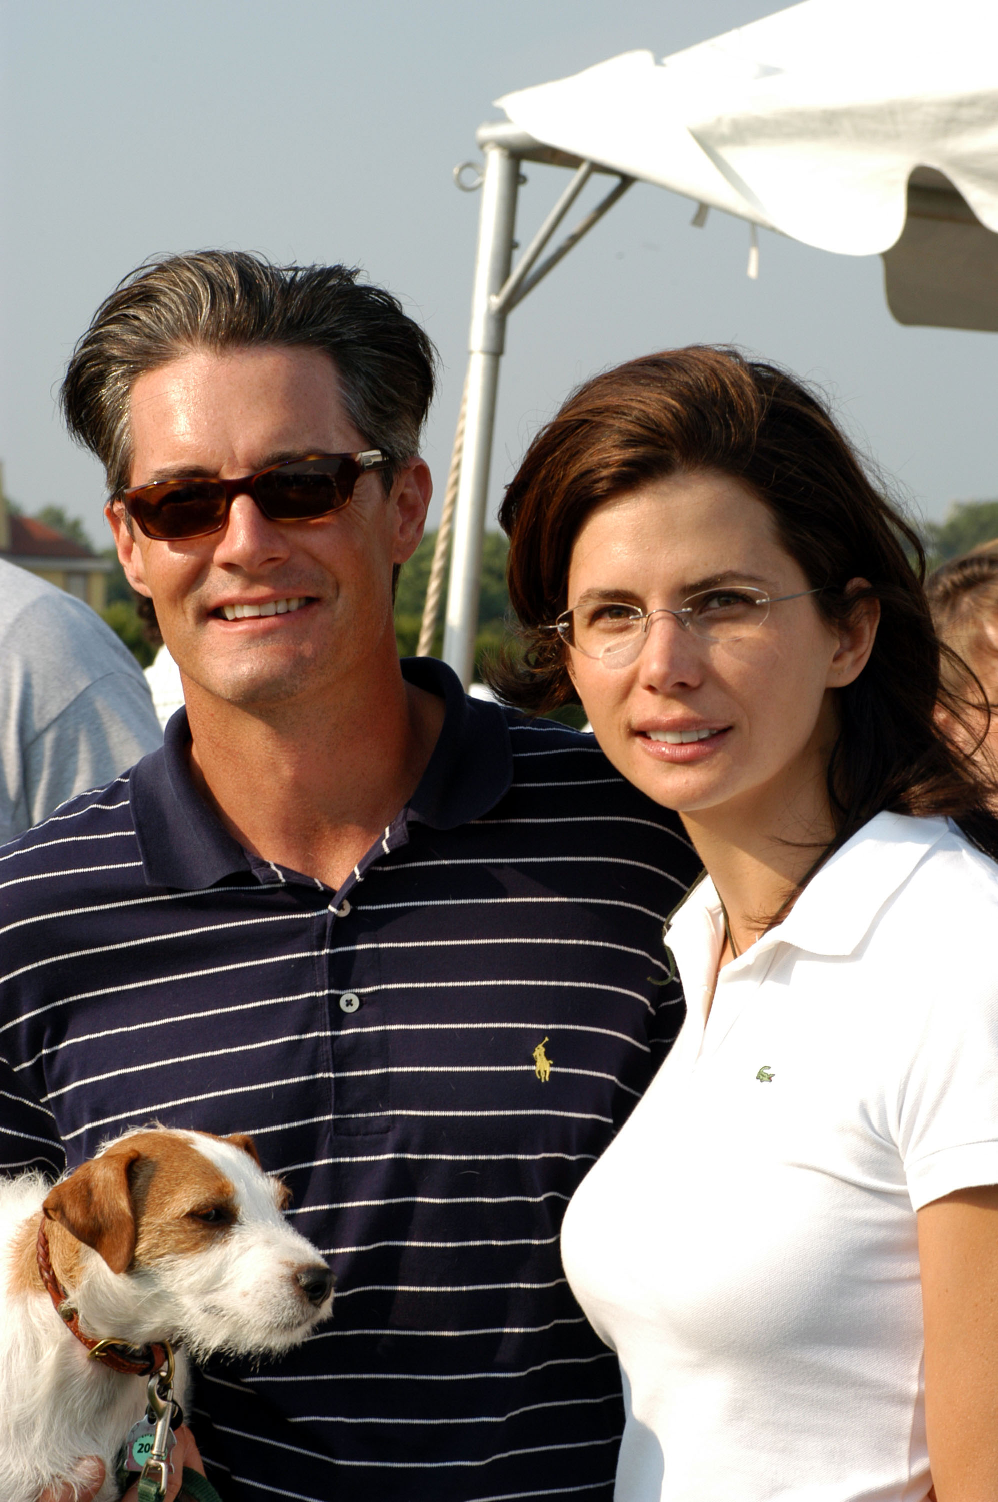
[[[998,1502],[998,1185],[918,1211],[929,1460],[939,1502]]]

